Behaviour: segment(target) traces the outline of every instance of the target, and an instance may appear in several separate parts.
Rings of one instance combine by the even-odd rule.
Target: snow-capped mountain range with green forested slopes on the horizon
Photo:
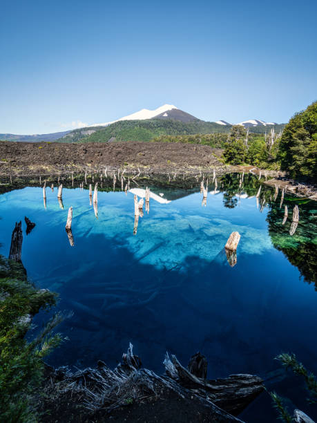
[[[253,133],[265,133],[272,127],[280,132],[285,124],[267,123],[262,120],[240,122]],[[177,109],[173,104],[164,104],[155,110],[142,109],[102,124],[87,126],[57,133],[41,135],[0,134],[0,140],[8,141],[58,141],[58,142],[111,142],[115,141],[150,141],[153,138],[171,135],[195,135],[227,133],[231,124],[225,120],[205,122],[190,113]]]

